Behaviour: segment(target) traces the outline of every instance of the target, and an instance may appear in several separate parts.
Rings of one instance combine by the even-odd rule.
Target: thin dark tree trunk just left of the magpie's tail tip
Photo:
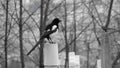
[[[21,68],[24,68],[24,54],[23,54],[23,31],[22,31],[22,0],[20,0],[20,21],[19,21],[19,42],[20,42],[20,59],[21,59]]]

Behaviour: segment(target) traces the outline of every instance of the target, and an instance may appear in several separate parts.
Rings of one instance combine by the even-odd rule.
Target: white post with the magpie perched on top
[[[45,68],[58,68],[59,56],[58,56],[58,44],[46,43],[44,45],[44,65]]]

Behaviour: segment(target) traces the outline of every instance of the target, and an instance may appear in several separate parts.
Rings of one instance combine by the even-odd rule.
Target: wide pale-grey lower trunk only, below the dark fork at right
[[[110,45],[111,45],[111,38],[107,35],[107,33],[102,34],[102,51],[101,51],[101,59],[102,59],[102,68],[111,68],[111,53],[110,53]]]

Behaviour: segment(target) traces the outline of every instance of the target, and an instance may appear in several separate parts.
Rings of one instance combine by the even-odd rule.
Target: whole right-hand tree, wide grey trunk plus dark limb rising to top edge
[[[103,26],[103,33],[102,33],[102,68],[111,68],[112,67],[112,62],[111,62],[111,53],[110,53],[110,45],[112,44],[112,38],[110,35],[107,33],[108,31],[108,26],[110,25],[110,17],[111,17],[111,12],[112,12],[112,6],[113,6],[114,0],[111,0],[110,2],[110,7],[108,10],[108,17],[107,21],[105,23],[105,26]]]

